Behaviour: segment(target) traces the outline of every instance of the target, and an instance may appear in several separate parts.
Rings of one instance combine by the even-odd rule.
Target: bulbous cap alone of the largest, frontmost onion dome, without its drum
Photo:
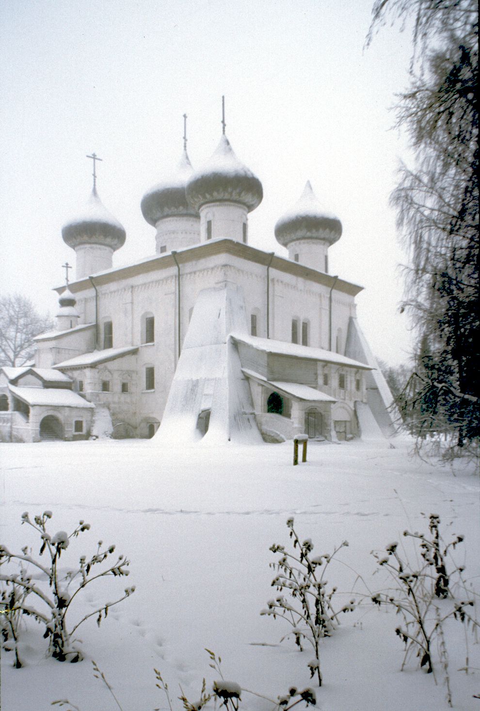
[[[206,203],[240,203],[248,212],[260,205],[262,183],[235,156],[225,134],[210,160],[193,173],[186,186],[188,201],[201,208]]]

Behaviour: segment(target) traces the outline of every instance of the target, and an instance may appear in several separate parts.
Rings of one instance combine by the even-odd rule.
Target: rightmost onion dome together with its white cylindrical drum
[[[310,181],[299,201],[275,225],[275,237],[289,250],[289,258],[328,272],[328,248],[341,237],[341,222],[320,205]]]

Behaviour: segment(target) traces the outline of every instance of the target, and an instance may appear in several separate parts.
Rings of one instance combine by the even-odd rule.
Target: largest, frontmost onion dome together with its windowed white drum
[[[218,238],[247,242],[247,215],[262,202],[263,190],[223,134],[213,155],[188,181],[186,196],[200,211],[202,242]]]

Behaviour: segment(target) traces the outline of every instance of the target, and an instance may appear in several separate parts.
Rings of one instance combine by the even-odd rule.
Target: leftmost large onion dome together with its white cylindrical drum
[[[85,207],[62,228],[63,241],[75,250],[77,279],[112,268],[112,255],[125,242],[125,230],[100,200],[96,188]]]

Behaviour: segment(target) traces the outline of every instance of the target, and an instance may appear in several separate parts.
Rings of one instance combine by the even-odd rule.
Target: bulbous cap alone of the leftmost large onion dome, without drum
[[[125,230],[105,208],[94,187],[85,208],[63,225],[62,237],[73,249],[79,245],[104,245],[118,250],[124,245]]]

